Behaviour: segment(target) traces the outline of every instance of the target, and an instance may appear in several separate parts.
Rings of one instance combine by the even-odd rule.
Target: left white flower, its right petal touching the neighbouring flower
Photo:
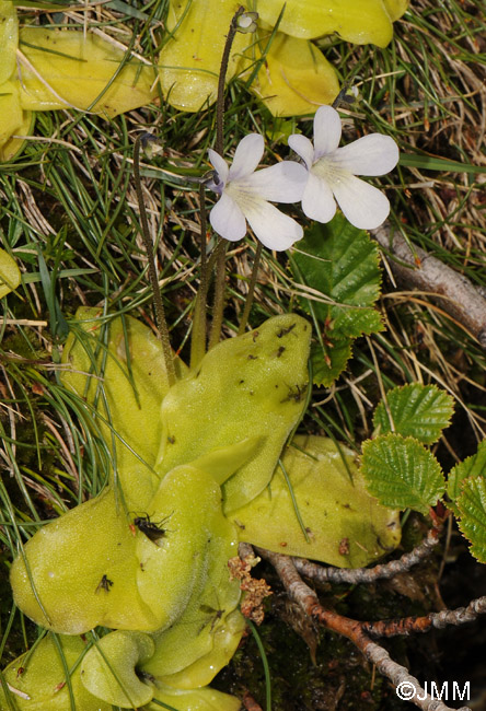
[[[303,232],[274,202],[299,202],[302,199],[306,171],[292,161],[284,161],[255,173],[264,152],[264,139],[250,133],[238,144],[233,164],[209,149],[215,177],[208,185],[221,197],[212,208],[209,220],[215,232],[234,242],[246,234],[246,220],[255,236],[269,249],[288,249]]]

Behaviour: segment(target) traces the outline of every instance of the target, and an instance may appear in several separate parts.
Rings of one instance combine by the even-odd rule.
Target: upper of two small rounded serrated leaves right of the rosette
[[[435,385],[420,383],[395,387],[386,394],[386,400],[389,411],[384,403],[380,403],[374,411],[377,432],[394,431],[403,436],[414,436],[424,444],[437,442],[454,410],[453,400],[447,393]]]

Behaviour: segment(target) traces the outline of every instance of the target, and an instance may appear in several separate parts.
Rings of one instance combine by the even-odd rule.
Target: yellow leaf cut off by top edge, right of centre
[[[281,0],[258,0],[261,19],[274,26],[282,9]],[[385,47],[393,36],[393,25],[383,0],[288,0],[279,31],[312,39],[337,33],[357,45]]]

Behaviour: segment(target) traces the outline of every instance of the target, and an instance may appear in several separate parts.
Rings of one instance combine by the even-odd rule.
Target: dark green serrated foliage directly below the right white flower
[[[305,231],[293,255],[296,281],[310,287],[312,313],[323,326],[326,352],[314,351],[314,383],[331,385],[346,368],[352,340],[383,329],[374,302],[381,272],[377,245],[342,214]],[[309,300],[301,298],[311,312]]]

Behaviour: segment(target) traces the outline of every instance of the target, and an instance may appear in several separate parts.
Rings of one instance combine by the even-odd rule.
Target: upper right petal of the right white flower
[[[397,164],[398,147],[390,136],[370,133],[338,148],[329,160],[352,175],[384,175]]]

